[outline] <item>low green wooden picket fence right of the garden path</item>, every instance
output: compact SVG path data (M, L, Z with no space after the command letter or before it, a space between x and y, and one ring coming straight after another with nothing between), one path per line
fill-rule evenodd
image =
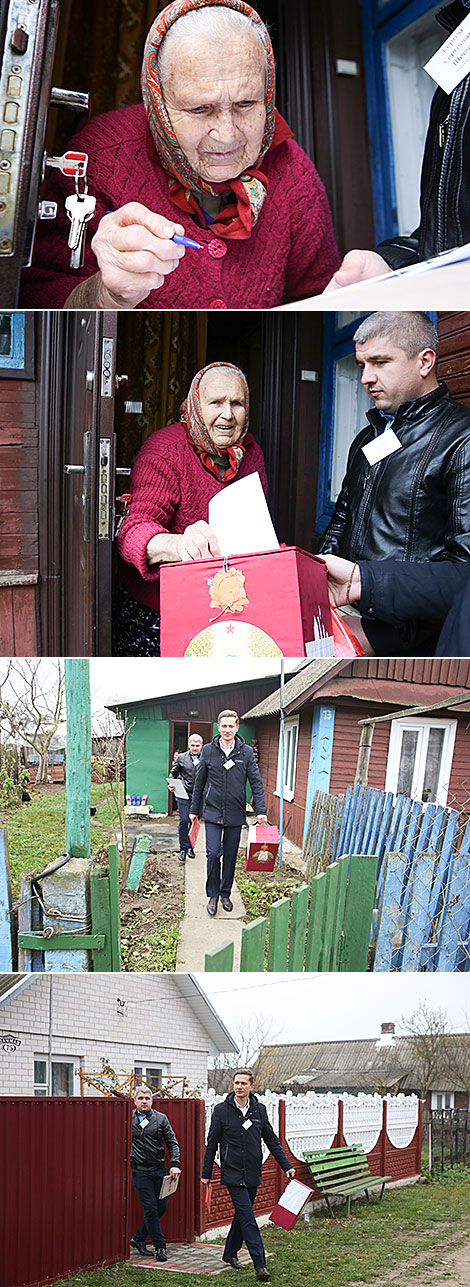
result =
M243 925L241 970L366 970L377 860L341 857ZM206 952L205 969L233 970L233 942Z

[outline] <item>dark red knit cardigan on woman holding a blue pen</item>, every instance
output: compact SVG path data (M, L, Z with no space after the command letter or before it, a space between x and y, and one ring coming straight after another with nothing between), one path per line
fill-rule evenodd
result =
M340 264L323 184L305 152L287 139L264 157L268 196L247 241L218 237L216 224L200 228L170 199L167 176L146 145L143 106L120 108L90 121L73 139L89 153L89 189L97 212L86 236L84 269L70 268L70 223L64 198L71 180L50 175L48 196L58 201L54 221L39 224L33 268L23 273L21 302L27 308L62 308L79 282L97 272L93 232L109 210L138 201L183 224L205 251L187 250L179 268L151 291L142 309L265 309L319 293Z

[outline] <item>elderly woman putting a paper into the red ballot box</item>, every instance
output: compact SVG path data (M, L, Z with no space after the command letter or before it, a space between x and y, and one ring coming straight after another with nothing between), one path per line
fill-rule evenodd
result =
M122 587L115 654L158 651L160 564L219 555L207 524L211 497L255 472L268 490L263 453L249 431L249 409L243 372L211 362L194 376L182 420L152 434L140 448L130 512L118 537Z

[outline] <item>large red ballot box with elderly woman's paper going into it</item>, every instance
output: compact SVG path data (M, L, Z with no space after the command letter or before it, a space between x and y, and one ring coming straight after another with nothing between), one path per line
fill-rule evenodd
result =
M326 566L296 546L160 575L162 656L335 656Z

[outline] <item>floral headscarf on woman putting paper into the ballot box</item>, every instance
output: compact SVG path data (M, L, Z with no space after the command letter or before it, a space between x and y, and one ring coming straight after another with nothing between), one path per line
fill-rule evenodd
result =
M228 447L225 449L228 457L228 466L225 468L220 468L220 465L218 465L216 461L218 456L220 457L225 453L223 453L223 448L214 447L201 411L200 389L202 376L205 376L207 371L214 371L216 367L223 367L227 371L234 371L242 380L245 389L245 427L238 443L234 443L233 447ZM202 369L196 373L191 384L189 393L183 403L180 414L183 425L185 425L189 441L193 447L196 447L197 454L201 457L206 468L210 470L211 474L215 474L215 477L218 477L219 481L232 483L238 474L249 443L254 441L252 435L249 434L250 391L247 378L243 376L240 367L234 367L232 362L210 362L207 367L202 367Z

